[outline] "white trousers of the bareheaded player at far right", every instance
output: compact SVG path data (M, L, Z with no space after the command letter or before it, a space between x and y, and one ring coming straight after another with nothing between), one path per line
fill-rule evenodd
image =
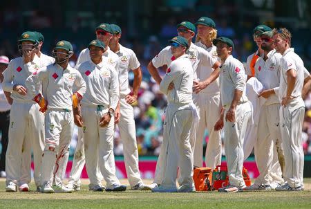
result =
M301 141L305 104L295 98L288 106L280 108L281 135L285 156L283 177L292 187L303 185L304 155Z

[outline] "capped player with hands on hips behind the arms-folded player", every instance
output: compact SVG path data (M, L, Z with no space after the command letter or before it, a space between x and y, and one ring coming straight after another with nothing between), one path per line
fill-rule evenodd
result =
M178 35L181 37L185 37L185 39L188 40L189 48L187 49L186 53L191 61L192 69L194 70L194 93L200 93L202 89L205 89L209 86L216 78L218 77L220 63L214 59L214 57L211 56L211 53L205 51L204 48L200 48L199 46L194 45L191 42L191 39L194 37L196 27L194 24L191 24L189 21L182 21L177 26ZM160 75L158 73L157 68L160 66L169 66L171 62L175 60L174 55L171 54L171 46L167 46L156 57L151 60L148 64L148 71L151 74L151 76L156 80L158 84L160 84L162 78L160 78ZM202 69L205 69L207 67L212 67L214 69L213 73L209 75L209 77L205 77L205 80L200 80L198 76L200 76L200 71L203 71ZM200 80L200 81L199 81ZM191 128L191 147L194 149L194 145L196 142L196 131L197 127ZM167 156L162 155L159 156L157 167L156 167L156 176L153 181L152 186L156 187L157 185L160 185L162 183L162 179L164 176L163 173L163 163L167 161ZM198 165L202 166L202 165Z

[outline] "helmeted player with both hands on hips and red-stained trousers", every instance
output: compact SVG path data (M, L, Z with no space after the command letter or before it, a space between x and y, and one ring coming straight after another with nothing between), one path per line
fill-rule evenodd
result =
M70 42L57 42L55 64L32 73L26 80L30 95L45 112L46 146L41 165L41 192L72 192L62 183L68 161L69 143L73 134L73 108L82 100L86 84L82 75L68 64L73 55ZM47 82L46 98L39 91L40 82ZM73 92L73 88L77 91ZM56 156L56 157L55 157ZM53 178L53 173L55 178ZM55 186L52 187L53 181Z

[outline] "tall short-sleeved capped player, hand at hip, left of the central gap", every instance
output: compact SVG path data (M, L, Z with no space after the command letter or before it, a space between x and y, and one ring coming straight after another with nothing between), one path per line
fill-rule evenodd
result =
M138 148L136 142L134 111L131 104L137 101L138 90L142 82L142 71L140 62L135 53L119 43L121 38L121 28L115 24L111 24L113 37L109 42L111 51L119 57L117 66L118 80L120 84L120 104L116 109L116 113L120 115L117 125L120 129L120 136L123 143L124 163L127 178L132 190L151 190L149 185L144 185L140 177L138 168ZM129 88L129 71L134 74L133 91Z

